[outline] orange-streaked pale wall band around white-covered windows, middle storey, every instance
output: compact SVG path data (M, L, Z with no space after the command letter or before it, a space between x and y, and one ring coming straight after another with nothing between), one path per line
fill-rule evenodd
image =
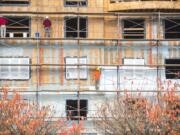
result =
M26 46L8 44L8 46L1 46L0 54L1 57L29 57L32 64L37 64L38 62L40 64L65 64L65 57L77 57L79 55L80 57L87 57L88 64L115 65L118 64L118 53L120 53L122 55L122 61L124 58L143 58L145 65L151 65L164 64L166 58L180 57L180 47L176 45L177 42L174 42L173 46L167 46L166 44L168 43L163 43L158 47L158 55L156 46L146 46L146 43L137 42L123 43L119 50L117 46L82 45L79 48L79 54L77 45L40 45L40 48L37 49L35 45L30 44ZM152 53L151 57L149 53ZM85 90L95 85L93 73L96 67L89 66L87 80L78 81L67 80L65 78L65 66L50 65L39 68L38 66L31 66L31 78L29 81L1 80L1 85L14 87L16 85L17 87L22 85L23 89L27 87L27 90L35 90L36 85L39 83L40 90L77 90L80 82L81 88Z

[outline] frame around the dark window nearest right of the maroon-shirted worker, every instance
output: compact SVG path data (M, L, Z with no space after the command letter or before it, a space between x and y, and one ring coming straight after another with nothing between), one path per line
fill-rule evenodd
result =
M76 31L73 31L73 32L76 32L77 33L77 36L76 37L68 37L67 36L67 32L69 32L69 31L66 31L66 28L67 28L67 24L66 24L66 19L67 18L77 18L77 21L78 21L78 17L73 17L73 16L65 16L64 17L64 37L65 38L72 38L72 39L76 39L76 38L84 38L84 39L86 39L86 38L88 38L88 17L83 17L83 16L80 16L79 17L79 19L81 19L81 18L85 18L86 19L86 31L80 31L80 30L78 30L78 28L77 28L77 30ZM79 23L80 23L80 20L79 20ZM77 24L78 25L78 24ZM79 24L80 25L80 24ZM70 31L70 32L72 32L72 31ZM78 32L79 32L79 37L78 37ZM81 32L85 32L86 33L86 35L85 35L85 37L81 37L80 36L80 33Z

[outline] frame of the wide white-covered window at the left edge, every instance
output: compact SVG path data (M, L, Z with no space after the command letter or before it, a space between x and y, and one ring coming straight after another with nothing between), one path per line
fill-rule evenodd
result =
M27 58L28 60L29 60L29 65L28 65L28 68L29 68L29 73L28 73L28 78L27 79L25 79L25 78L23 78L23 79L20 79L20 78L16 78L16 79L12 79L12 78L9 78L9 79L3 79L3 78L0 78L0 81L6 81L6 80L8 80L8 81L28 81L28 80L30 80L31 79L31 63L32 63L32 61L31 61L31 58L30 57L0 57L0 59L1 58L8 58L8 59L13 59L13 58L19 58L19 59L22 59L22 58ZM5 66L6 67L6 66ZM23 66L16 66L16 67L18 67L18 68L22 68ZM11 70L12 69L12 67L9 67L8 66L8 70ZM20 72L20 70L18 70L18 72ZM10 72L11 73L11 72ZM1 66L0 66L0 74L1 74ZM9 71L8 71L8 74L9 74Z

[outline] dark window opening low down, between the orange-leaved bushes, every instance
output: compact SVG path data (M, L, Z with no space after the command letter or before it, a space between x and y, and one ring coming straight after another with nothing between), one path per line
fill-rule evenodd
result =
M79 103L80 108L78 108L78 100L66 100L66 116L68 120L83 120L87 118L88 101L80 100Z

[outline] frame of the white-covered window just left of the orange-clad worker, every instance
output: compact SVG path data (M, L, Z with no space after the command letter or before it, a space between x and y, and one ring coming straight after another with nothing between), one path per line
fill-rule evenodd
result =
M70 58L70 59L71 59L71 58L72 58L72 59L74 58L74 59L77 59L77 60L78 60L78 57L69 57L69 56L67 56L67 57L64 58L65 64L67 63L66 61L67 61L68 58ZM79 59L81 59L81 58L83 58L83 59L85 58L85 59L86 59L86 64L88 63L88 59L87 59L86 56L82 56L82 57L80 57ZM81 63L80 63L80 64L81 64ZM84 66L85 66L85 67L84 67ZM78 80L78 79L79 79L79 80L87 80L87 79L88 79L88 67L87 67L87 65L84 65L84 66L82 66L82 67L84 67L85 70L86 70L86 75L85 75L86 77L85 77L85 78L81 78L81 76L80 76L79 78L78 78L78 77L68 78L68 77L67 77L67 67L68 67L68 66L66 65L66 66L65 66L65 68L66 68L66 69L65 69L65 78L66 78L66 80ZM72 66L70 66L70 67L72 67ZM74 68L75 68L75 66L74 66ZM84 68L83 68L83 69L84 69ZM78 71L78 66L76 66L75 69L77 69L77 71ZM79 66L79 69L80 69L80 72L81 72L81 66ZM79 73L80 73L80 72L79 72Z

